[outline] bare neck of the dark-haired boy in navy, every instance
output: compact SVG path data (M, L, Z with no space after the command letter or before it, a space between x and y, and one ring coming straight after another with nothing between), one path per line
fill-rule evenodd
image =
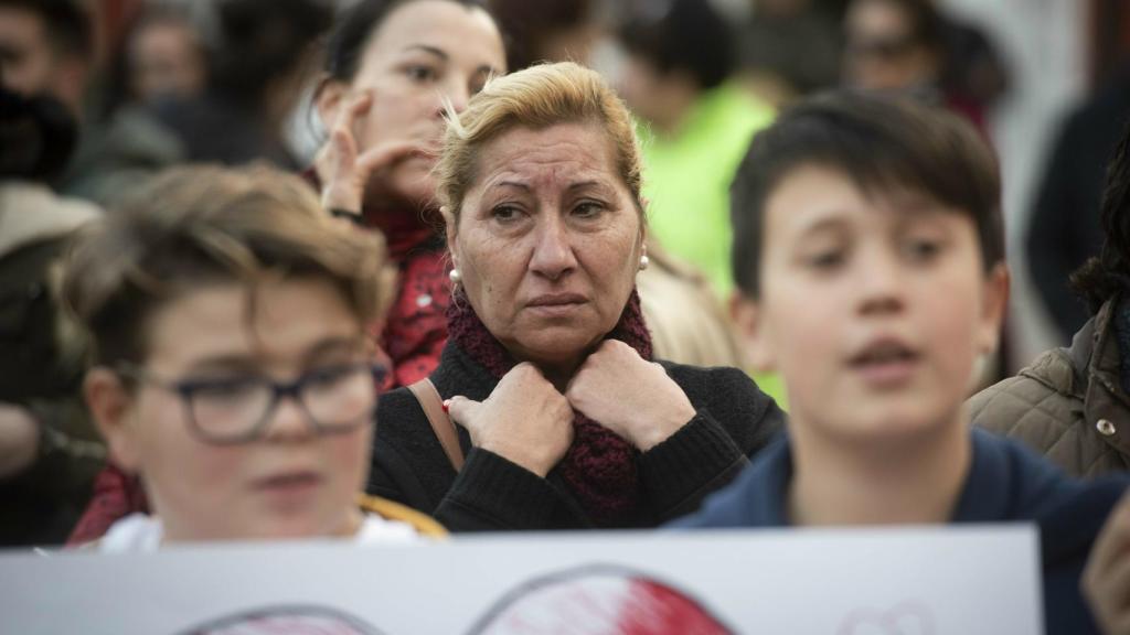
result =
M791 423L796 525L947 522L972 461L964 411L936 433L897 441L828 438Z

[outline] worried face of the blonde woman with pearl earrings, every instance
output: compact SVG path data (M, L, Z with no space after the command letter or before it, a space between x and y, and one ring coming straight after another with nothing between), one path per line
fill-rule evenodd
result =
M571 373L620 318L640 212L599 125L515 128L478 153L447 242L467 297L520 360Z

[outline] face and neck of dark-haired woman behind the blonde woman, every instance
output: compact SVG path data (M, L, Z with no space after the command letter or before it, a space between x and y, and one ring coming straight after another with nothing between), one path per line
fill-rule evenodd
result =
M370 36L350 89L373 106L355 134L362 149L414 141L438 154L444 101L457 112L492 75L505 72L502 36L480 9L416 0L393 9ZM434 156L411 156L374 175L367 200L431 202Z

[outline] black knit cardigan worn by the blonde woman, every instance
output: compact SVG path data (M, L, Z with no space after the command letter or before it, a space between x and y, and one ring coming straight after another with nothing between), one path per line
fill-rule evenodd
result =
M664 363L697 415L638 455L643 501L629 527L655 527L696 510L729 482L784 421L776 403L736 368ZM498 383L449 341L431 375L440 394L481 401ZM407 389L377 407L371 494L429 513L452 531L584 529L594 523L556 471L545 479L486 450L459 428L467 456L457 475L419 402Z

